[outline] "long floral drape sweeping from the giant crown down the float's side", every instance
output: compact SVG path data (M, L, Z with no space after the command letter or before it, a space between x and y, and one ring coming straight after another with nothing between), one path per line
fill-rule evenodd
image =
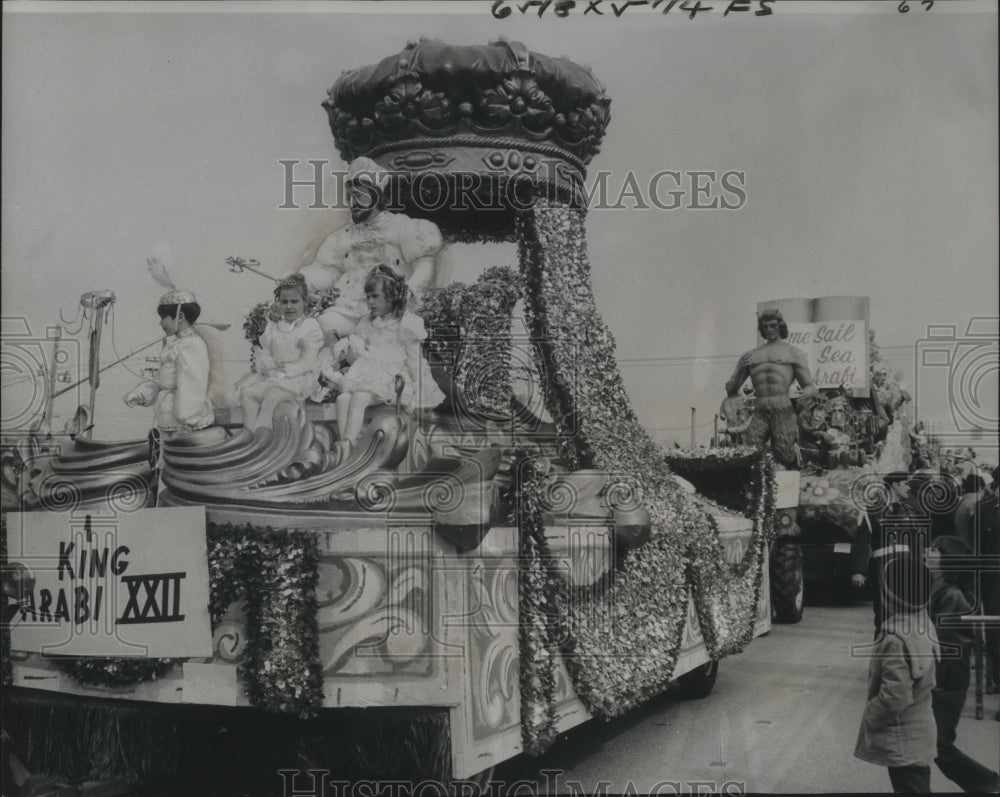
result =
M597 468L639 484L652 520L651 540L623 553L612 577L589 595L563 601L552 589L545 596L559 609L577 694L591 713L609 718L669 683L689 595L714 658L752 638L757 596L740 596L762 578L766 540L752 535L741 561L727 564L706 508L677 486L664 452L639 424L594 302L584 219L583 211L539 196L518 217L518 242L528 322L562 456L570 469ZM763 485L754 489L759 495ZM761 511L766 507L765 500ZM522 650L522 659L534 655Z

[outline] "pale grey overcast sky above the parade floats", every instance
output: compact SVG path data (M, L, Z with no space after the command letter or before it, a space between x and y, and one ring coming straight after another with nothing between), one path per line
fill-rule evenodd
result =
M40 335L60 312L74 319L80 295L96 289L118 297L104 362L153 340L162 289L145 259L167 247L203 318L233 325L217 335L231 383L244 370L244 312L270 287L228 273L226 257L256 257L281 276L345 221L338 210L278 208L279 160L340 163L319 104L327 88L421 35L506 36L587 64L606 86L611 124L589 182L609 172L612 199L630 173L639 186L667 169L744 175L738 210L588 217L597 304L658 439L686 443L695 407L698 442L708 442L723 385L755 343L759 301L844 294L870 297L877 340L921 415L948 422L951 379L966 385L956 400L978 403L996 428L995 336L985 368L965 358L974 378L914 366L928 325L955 327L949 345L962 361L984 350L965 335L970 319L998 314L993 2L913 3L900 14L895 2L777 0L770 16L723 18L718 0L694 20L676 10L616 18L606 2L604 16L583 16L579 3L564 19L507 3L504 20L489 2L332 4L361 13L85 5L4 4L8 343L12 318ZM516 264L513 245L454 246L444 258L463 278ZM140 369L142 357L129 365ZM120 401L134 381L122 366L105 374L95 437L143 434L148 411ZM65 418L75 400L58 401Z

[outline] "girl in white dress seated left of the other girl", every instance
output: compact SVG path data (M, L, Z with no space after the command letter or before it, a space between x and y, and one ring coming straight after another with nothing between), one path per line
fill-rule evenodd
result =
M301 274L286 277L274 289L281 317L267 322L260 348L254 349L254 372L236 386L248 429L271 428L280 402L301 402L313 391L323 330L315 318L306 316L306 297Z

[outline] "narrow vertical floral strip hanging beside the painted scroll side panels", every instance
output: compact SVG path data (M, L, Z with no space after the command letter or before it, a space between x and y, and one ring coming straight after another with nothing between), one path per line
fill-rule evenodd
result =
M541 496L547 463L518 451L512 464L519 563L518 642L521 651L521 740L524 751L539 755L556 738L556 667L560 627L555 612L562 594L555 562L542 524Z

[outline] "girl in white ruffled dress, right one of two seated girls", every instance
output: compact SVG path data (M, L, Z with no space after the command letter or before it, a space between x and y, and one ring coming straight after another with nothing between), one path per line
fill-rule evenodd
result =
M373 404L395 402L397 386L400 403L407 409L430 409L444 401L420 351L427 337L423 319L406 310L408 290L402 275L386 265L368 272L365 299L370 315L333 346L334 360L346 359L350 368L341 373L326 366L321 372L340 392L338 444L348 451L361 435L365 410Z

